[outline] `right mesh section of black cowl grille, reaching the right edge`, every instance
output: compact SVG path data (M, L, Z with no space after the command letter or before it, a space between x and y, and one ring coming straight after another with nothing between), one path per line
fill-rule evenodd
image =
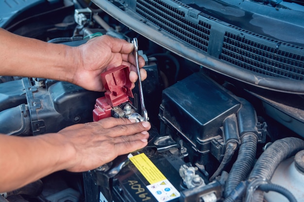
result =
M304 80L304 56L226 32L220 59L272 77Z

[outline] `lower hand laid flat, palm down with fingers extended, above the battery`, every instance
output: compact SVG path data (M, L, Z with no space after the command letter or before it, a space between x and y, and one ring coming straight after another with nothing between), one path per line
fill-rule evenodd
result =
M68 171L88 171L147 145L149 122L105 118L99 122L75 124L59 131L74 151Z

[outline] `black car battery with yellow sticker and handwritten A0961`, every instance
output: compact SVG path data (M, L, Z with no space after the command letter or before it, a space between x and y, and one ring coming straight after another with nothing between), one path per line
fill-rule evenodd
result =
M111 179L112 165L107 172L95 171L96 184L101 186L100 200L115 202L176 202L180 197L181 177L179 168L185 163L170 152L158 153L154 147L129 154L123 160L124 167ZM115 173L115 172L114 172ZM107 177L105 177L106 175ZM94 175L93 175L94 176ZM102 179L102 181L100 181ZM104 179L109 179L108 190ZM110 193L111 192L111 193Z

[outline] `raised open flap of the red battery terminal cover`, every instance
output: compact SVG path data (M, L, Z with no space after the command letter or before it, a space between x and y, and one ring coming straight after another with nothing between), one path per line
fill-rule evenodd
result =
M101 74L102 84L106 90L104 96L111 107L118 106L133 98L132 82L129 79L130 67L120 65Z

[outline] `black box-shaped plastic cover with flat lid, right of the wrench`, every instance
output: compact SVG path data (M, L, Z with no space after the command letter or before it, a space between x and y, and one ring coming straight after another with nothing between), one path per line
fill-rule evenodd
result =
M163 91L160 118L197 146L219 135L224 119L239 107L220 86L196 73Z

